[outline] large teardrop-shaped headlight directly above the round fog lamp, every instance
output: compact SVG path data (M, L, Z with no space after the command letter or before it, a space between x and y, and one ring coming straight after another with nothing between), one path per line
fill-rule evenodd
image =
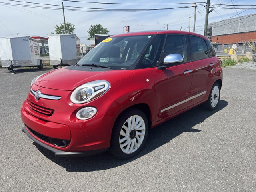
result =
M88 82L76 88L71 96L72 103L81 104L94 100L105 94L110 88L110 83L105 80Z

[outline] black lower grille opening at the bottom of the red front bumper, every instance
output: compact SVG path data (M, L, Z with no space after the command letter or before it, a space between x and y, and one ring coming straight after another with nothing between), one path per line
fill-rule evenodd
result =
M58 146L58 147L66 147L70 144L70 140L64 140L64 139L56 139L56 138L52 138L52 137L48 137L48 136L45 136L43 134L40 134L38 132L36 132L35 130L32 130L31 128L29 128L28 126L26 126L28 128L28 130L30 130L30 132L32 134L34 134L36 137L44 140L45 142L48 142L50 144L53 144L55 146Z

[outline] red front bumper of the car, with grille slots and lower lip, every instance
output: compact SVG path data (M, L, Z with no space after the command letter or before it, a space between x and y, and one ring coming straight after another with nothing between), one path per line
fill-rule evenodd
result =
M122 106L105 96L86 104L70 102L70 91L53 90L33 85L43 94L61 96L60 100L40 98L31 92L23 102L21 118L24 132L36 143L56 156L86 156L106 151L110 146L114 121ZM97 114L88 120L78 120L76 112L94 106ZM49 113L49 114L48 114ZM64 145L59 142L64 141Z

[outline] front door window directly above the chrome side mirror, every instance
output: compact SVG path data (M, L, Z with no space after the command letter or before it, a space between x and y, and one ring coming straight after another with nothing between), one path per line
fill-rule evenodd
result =
M188 61L186 38L184 35L168 35L164 45L164 57L169 54L180 54L184 62Z

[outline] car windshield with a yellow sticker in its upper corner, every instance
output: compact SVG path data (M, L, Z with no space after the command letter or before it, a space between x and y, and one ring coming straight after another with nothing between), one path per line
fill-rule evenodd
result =
M154 35L107 38L90 50L78 65L108 66L111 69L134 69L138 58Z

